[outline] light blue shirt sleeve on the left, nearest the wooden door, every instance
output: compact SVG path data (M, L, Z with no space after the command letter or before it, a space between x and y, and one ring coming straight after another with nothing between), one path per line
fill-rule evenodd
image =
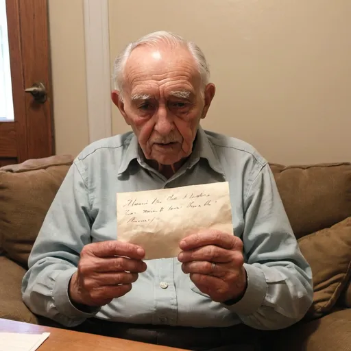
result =
M47 212L22 282L23 301L37 315L76 326L97 313L80 311L69 299L69 281L80 252L90 243L90 204L84 169L76 160Z

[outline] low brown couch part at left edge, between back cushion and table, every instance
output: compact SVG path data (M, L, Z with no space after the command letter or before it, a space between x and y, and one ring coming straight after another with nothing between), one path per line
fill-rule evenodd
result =
M37 317L22 300L25 269L5 256L0 256L0 267L0 318L38 324Z

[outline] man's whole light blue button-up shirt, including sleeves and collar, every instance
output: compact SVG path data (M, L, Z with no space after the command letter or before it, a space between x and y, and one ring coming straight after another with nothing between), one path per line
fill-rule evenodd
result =
M69 280L84 245L116 239L116 193L228 181L233 232L243 241L247 290L232 306L213 302L177 258L146 261L132 290L91 313L69 300ZM136 324L278 329L301 319L313 298L302 256L267 161L236 138L199 128L193 153L167 180L143 158L132 133L97 141L77 156L29 256L23 300L66 326L88 317Z

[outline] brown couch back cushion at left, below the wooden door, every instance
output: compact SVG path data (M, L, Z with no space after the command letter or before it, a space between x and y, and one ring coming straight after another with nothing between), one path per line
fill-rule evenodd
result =
M68 155L51 156L0 168L1 246L24 266L72 162Z

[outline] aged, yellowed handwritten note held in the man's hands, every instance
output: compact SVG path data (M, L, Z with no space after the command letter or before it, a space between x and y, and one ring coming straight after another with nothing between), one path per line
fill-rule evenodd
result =
M232 234L228 182L117 193L117 239L143 247L145 259L178 256L181 239L201 229Z

